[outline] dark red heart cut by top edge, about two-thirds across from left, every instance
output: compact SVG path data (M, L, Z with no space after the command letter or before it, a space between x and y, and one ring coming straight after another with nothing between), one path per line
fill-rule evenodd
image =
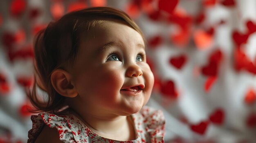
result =
M173 10L178 4L178 0L159 0L158 8L168 13L173 13Z

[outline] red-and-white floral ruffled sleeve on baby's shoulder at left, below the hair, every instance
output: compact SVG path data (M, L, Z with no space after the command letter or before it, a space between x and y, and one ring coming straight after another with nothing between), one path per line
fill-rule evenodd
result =
M43 130L44 125L48 125L50 128L56 128L59 133L59 138L64 143L76 143L74 135L75 132L72 131L73 117L61 116L49 113L40 113L37 116L32 115L31 121L33 123L32 129L29 130L28 143L33 143L40 132Z

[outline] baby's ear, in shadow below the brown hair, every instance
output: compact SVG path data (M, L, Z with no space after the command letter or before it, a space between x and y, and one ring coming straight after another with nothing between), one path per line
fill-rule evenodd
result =
M76 97L77 92L71 83L71 76L65 70L56 69L52 72L51 83L54 89L62 96Z

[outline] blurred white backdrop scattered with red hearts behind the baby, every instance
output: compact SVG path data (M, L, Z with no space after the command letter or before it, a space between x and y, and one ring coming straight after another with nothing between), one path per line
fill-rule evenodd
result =
M33 38L86 7L128 13L155 75L166 143L256 143L256 0L1 0L0 143L26 143Z

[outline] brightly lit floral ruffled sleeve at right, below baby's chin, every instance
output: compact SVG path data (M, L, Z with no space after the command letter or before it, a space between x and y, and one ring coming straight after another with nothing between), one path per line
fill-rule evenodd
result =
M141 111L146 123L146 131L150 134L151 143L164 143L165 119L161 110L144 108Z

